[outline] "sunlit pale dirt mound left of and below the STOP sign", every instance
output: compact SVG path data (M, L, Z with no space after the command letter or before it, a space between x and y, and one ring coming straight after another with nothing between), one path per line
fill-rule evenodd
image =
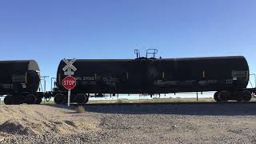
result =
M98 121L90 115L53 106L1 106L0 114L0 142L15 136L58 136L98 130Z

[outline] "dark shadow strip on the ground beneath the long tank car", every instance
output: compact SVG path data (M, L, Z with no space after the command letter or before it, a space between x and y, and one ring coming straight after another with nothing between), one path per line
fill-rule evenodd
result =
M51 105L75 110L70 107ZM103 114L256 115L256 102L114 103L84 105L87 112Z

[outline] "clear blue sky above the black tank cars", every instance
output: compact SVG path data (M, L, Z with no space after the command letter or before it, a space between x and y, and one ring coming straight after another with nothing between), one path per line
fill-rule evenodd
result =
M255 0L22 0L0 2L0 60L244 55L256 72Z

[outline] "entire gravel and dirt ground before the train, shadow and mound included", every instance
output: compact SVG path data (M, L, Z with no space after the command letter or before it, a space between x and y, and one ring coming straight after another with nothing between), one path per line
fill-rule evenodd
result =
M256 143L256 103L0 106L0 143Z

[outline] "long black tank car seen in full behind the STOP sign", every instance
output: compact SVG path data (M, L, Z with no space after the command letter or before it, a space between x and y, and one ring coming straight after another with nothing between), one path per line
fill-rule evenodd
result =
M246 89L249 66L243 56L206 58L78 59L71 102L86 103L90 94L168 94L217 91L214 100L248 102L255 89ZM138 52L138 50L136 51ZM60 62L54 102L66 103Z

